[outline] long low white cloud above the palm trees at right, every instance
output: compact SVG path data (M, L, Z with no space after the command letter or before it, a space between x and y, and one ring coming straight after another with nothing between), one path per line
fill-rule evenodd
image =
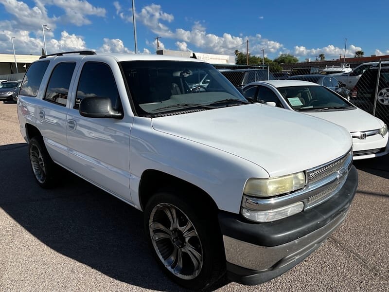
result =
M346 57L354 56L355 51L362 50L361 47L357 47L354 45L350 45L346 50ZM295 46L294 47L294 55L296 56L316 56L319 54L324 54L326 58L338 58L339 55L344 55L344 48L339 48L334 45L328 45L323 48L317 49L307 49L304 46Z

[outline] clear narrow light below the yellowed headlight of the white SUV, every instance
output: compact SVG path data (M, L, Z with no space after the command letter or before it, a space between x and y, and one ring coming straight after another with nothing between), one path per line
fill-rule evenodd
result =
M242 215L255 222L271 222L295 215L300 213L302 210L304 210L304 203L297 202L281 208L266 211L254 211L242 208Z

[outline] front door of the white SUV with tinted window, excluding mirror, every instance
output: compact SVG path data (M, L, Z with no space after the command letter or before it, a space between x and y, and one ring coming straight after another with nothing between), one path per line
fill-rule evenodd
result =
M108 97L115 109L123 110L126 94L123 77L116 62L108 65L83 61L66 127L71 169L111 194L131 201L129 192L129 141L132 116L124 112L122 119L88 118L80 115L84 97ZM127 100L128 103L128 100Z

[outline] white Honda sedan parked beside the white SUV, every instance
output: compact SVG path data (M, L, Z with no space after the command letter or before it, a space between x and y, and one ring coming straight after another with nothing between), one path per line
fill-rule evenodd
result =
M269 80L252 82L243 92L250 101L299 111L347 128L353 137L354 160L389 153L388 126L324 86L299 80Z

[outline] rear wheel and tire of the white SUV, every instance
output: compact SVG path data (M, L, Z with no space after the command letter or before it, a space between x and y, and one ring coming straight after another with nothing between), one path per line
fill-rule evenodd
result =
M42 188L52 188L56 182L56 164L47 152L42 137L33 137L28 146L35 181Z

